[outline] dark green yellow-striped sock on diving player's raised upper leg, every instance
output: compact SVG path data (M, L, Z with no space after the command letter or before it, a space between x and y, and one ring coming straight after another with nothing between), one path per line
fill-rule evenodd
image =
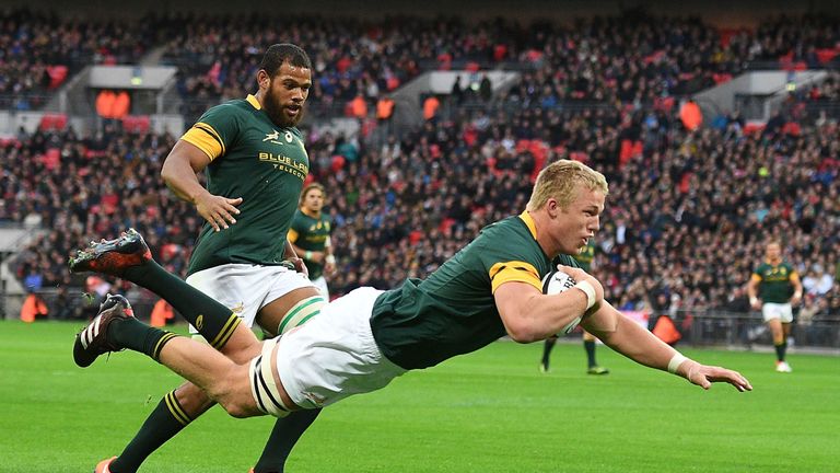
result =
M228 343L240 324L230 309L168 273L155 262L126 269L125 279L165 299L215 349Z

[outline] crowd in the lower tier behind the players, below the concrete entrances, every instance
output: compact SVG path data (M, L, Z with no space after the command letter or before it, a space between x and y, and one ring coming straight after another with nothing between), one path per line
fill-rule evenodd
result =
M674 115L644 109L525 107L430 120L382 147L313 129L308 149L336 222L335 295L430 273L483 224L521 211L537 166L571 157L611 185L595 267L618 305L744 309L740 289L774 236L820 310L840 313L840 285L829 281L840 269L837 136L836 122L798 136L745 135L736 120L687 131ZM22 172L0 180L0 219L52 229L23 253L20 278L34 289L81 287L66 269L71 249L127 227L183 273L200 219L158 176L174 139L107 128L7 142L3 168ZM622 161L622 140L643 143L641 152ZM60 147L57 161L46 159L50 146Z

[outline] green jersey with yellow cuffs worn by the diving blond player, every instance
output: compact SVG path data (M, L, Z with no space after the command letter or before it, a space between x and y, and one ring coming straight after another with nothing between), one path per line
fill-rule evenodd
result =
M561 262L578 266L571 256ZM376 299L371 328L389 360L428 368L505 335L493 292L522 281L541 291L551 261L527 212L492 223L425 280L408 279Z

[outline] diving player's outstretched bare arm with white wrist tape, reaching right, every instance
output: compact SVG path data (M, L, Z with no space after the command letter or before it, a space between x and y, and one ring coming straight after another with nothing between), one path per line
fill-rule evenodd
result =
M709 389L713 382L727 382L742 392L752 390L752 385L739 372L686 358L621 314L607 301L604 301L595 313L585 318L581 325L633 361L675 373L703 389Z

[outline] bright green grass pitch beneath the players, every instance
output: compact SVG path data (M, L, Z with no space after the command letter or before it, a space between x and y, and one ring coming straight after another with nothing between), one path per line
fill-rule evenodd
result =
M147 357L77 368L79 323L0 322L0 472L89 472L117 454L178 378ZM290 472L836 472L840 358L685 348L744 372L755 391L703 391L598 347L495 343L330 406ZM246 472L271 427L218 407L150 458L147 472Z

